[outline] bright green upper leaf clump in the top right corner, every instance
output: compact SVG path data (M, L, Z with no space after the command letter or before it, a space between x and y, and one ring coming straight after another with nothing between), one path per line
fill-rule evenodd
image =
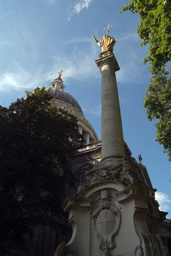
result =
M149 55L145 63L151 63L151 72L165 72L165 64L171 58L171 3L168 0L133 0L123 7L122 12L130 10L138 13L140 24L137 33L143 40L142 45L149 44Z

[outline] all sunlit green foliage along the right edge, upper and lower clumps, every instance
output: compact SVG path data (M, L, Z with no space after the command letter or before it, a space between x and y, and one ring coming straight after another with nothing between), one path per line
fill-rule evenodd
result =
M156 120L156 140L163 145L171 161L170 113L171 93L168 67L171 58L171 2L168 0L133 0L121 12L138 13L137 33L142 45L149 44L149 55L144 63L151 64L151 83L147 87L144 108L147 118Z

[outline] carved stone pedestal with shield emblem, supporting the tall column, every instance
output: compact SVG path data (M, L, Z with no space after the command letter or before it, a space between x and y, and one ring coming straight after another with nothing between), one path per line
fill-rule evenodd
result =
M90 186L63 204L73 235L55 256L164 256L158 234L165 212L154 200L156 189L136 180L128 163L107 166L98 178L96 172L87 173Z

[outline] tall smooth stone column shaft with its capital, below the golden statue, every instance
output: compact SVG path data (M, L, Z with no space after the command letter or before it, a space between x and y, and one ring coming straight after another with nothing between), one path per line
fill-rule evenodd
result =
M101 54L100 54L101 55ZM101 161L124 157L123 127L115 72L119 65L110 53L96 60L101 71Z

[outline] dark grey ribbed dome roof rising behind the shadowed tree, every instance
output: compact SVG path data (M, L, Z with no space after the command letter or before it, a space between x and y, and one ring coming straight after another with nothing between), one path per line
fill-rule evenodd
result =
M70 93L65 92L64 90L53 88L52 86L47 88L48 95L52 96L54 99L63 100L66 103L71 104L73 107L77 108L78 111L82 113L82 109L78 104L77 100L74 99ZM83 113L82 113L83 115Z

